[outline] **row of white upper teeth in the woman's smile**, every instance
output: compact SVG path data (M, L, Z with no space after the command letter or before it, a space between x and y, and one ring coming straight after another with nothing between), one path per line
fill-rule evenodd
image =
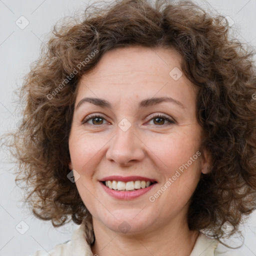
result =
M107 187L114 189L114 190L134 190L139 188L145 188L151 185L150 181L144 181L144 180L135 180L135 181L116 181L116 180L107 180L104 183Z

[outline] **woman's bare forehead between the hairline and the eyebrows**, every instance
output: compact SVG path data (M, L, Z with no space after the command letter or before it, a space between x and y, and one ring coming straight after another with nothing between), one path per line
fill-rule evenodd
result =
M92 71L81 77L76 101L85 94L109 97L112 93L116 100L172 94L189 101L194 85L182 74L180 61L179 53L161 47L129 46L109 50Z

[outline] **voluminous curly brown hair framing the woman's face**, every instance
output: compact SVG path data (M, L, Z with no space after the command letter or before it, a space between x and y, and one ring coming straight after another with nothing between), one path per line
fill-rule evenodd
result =
M217 239L229 221L238 231L242 217L256 208L256 68L254 52L232 39L224 17L191 1L117 0L85 9L83 20L55 25L20 88L23 122L8 144L17 159L15 182L26 182L32 213L53 226L91 215L70 172L68 137L81 76L110 49L140 45L174 49L181 68L198 88L197 120L201 150L212 159L192 195L191 230L208 230ZM29 191L29 192L28 192ZM71 217L71 219L69 218Z

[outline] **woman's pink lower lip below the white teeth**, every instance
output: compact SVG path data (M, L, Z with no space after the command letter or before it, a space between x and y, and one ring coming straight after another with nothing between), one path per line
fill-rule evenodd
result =
M133 199L136 198L146 192L148 192L156 183L151 184L148 187L145 188L140 188L134 191L118 191L118 190L114 190L111 189L107 186L105 186L101 181L99 181L99 183L101 184L101 186L103 187L103 189L112 197L116 198L116 199L123 199L123 200L129 200L129 199Z

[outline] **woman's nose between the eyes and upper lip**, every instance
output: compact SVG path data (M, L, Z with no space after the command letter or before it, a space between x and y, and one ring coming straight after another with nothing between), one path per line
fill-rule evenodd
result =
M121 166L130 166L136 161L141 161L145 155L145 145L139 135L134 133L133 125L126 131L117 126L115 132L115 135L109 141L110 145L106 152L106 159L115 161Z

